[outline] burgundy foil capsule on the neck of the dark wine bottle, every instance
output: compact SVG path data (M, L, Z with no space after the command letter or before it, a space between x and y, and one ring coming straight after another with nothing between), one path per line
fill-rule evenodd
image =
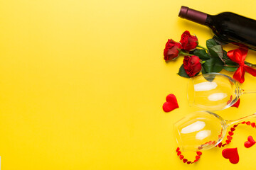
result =
M181 18L185 18L189 21L193 21L193 22L200 23L202 25L207 26L207 23L206 23L206 20L208 18L207 13L196 11L186 6L181 6L181 10L179 11L178 16Z

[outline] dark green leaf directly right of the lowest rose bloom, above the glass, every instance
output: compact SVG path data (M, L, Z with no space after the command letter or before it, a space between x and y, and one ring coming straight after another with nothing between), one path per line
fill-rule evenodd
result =
M209 72L220 72L223 69L224 63L217 57L211 57L210 60L206 60L203 64L204 71Z

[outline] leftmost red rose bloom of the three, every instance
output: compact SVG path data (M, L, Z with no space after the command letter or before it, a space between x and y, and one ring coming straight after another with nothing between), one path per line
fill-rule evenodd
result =
M178 52L181 49L181 43L174 40L168 40L164 49L164 60L174 60L178 57Z

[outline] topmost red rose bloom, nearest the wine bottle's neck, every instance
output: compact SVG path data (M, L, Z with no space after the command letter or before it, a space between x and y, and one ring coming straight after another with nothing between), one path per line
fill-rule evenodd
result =
M198 39L196 36L191 35L188 30L181 35L180 42L182 49L187 51L195 49L198 45Z

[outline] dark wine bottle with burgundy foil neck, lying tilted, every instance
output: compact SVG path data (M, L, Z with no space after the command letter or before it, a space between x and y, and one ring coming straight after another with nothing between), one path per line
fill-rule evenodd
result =
M212 16L181 6L178 16L208 26L223 42L256 50L256 21L236 13L223 12Z

